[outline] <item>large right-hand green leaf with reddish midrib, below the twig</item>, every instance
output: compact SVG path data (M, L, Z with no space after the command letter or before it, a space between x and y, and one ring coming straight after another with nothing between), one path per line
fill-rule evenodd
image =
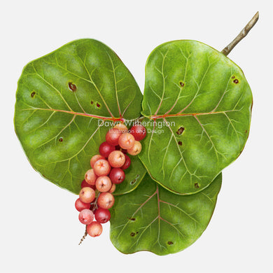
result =
M244 73L228 57L197 41L164 43L146 63L139 158L165 188L196 193L243 150L251 106Z

